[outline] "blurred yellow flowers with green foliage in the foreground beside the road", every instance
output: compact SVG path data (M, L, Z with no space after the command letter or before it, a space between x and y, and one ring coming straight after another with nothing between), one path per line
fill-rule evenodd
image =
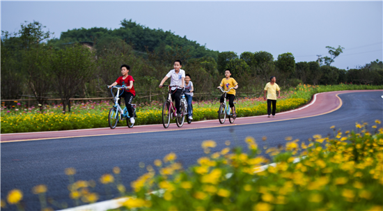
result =
M214 150L217 143L203 141L205 156L189 169L183 169L174 153L153 166L140 164L147 172L131 183L131 193L121 183L118 167L102 175L100 183L106 192L114 188L127 196L116 210L382 210L383 128L380 120L375 123L357 123L352 132L331 126L332 138L314 135L299 141L288 136L279 148L258 148L251 137L244 140L246 149L230 148L226 141L226 148ZM274 164L265 168L270 162ZM91 192L95 181L75 182L73 168L65 173L75 205L97 201L98 194ZM63 208L53 199L47 203L45 185L32 192L42 210ZM2 208L23 209L19 189L8 192L6 201L1 200Z

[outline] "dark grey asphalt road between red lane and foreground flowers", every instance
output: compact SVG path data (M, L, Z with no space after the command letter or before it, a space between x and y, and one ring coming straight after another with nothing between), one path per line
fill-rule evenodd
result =
M153 165L155 159L162 159L173 152L184 166L192 165L198 157L205 155L201 148L204 140L217 142L213 151L226 147L226 140L231 142L231 146L245 147L246 136L253 136L260 147L271 147L284 145L286 136L302 141L314 134L327 136L333 133L329 128L331 125L343 132L354 130L356 122L372 126L376 119L383 120L381 95L382 92L341 94L343 105L334 112L273 123L1 143L1 198L6 199L11 189L21 189L25 209L40 210L38 196L32 194L31 189L45 184L49 198L73 207L75 204L68 196L68 176L64 173L65 168L73 167L77 170L75 180L97 182L95 192L100 194L100 201L104 201L118 196L116 189L111 195L105 194L104 186L99 182L102 174L111 173L114 166L120 167L123 184L130 190L130 182L144 173L139 162ZM267 141L261 141L263 136L267 136ZM8 205L1 210L16 210L16 207Z

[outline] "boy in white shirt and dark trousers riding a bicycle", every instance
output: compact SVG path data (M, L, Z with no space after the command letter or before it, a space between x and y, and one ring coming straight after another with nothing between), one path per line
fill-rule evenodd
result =
M180 86L171 88L171 99L175 100L175 109L177 109L177 117L181 117L180 101L182 88L185 87L185 70L181 70L182 63L180 60L174 61L173 68L174 69L170 70L168 74L166 74L164 79L162 79L161 83L159 84L159 87L162 88L162 84L164 84L164 82L169 78L171 78L170 86Z

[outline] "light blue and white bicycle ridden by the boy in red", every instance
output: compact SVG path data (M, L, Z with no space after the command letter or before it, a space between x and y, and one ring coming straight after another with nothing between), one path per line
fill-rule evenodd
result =
M117 93L116 96L114 96L112 89L116 88ZM134 123L130 123L130 116L129 112L127 111L127 108L125 107L122 109L120 107L120 104L118 104L118 100L120 100L120 95L123 94L125 91L125 86L112 86L111 87L111 95L114 98L114 106L109 110L109 116L108 116L108 122L109 122L109 127L111 129L116 128L116 125L120 122L120 120L125 120L126 119L126 124L127 127L132 128L134 126ZM123 92L119 95L120 90L123 90ZM133 118L136 118L136 104L132 104L133 107Z

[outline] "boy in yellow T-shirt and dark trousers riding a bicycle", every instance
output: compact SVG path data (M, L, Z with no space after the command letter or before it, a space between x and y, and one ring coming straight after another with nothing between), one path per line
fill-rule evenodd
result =
M219 84L217 88L224 86L224 90L228 91L230 88L233 87L232 90L226 93L226 99L228 99L228 104L231 108L231 113L233 114L233 117L235 118L235 116L237 115L235 114L234 98L235 98L235 89L238 88L238 83L237 81L235 81L235 79L230 78L230 75L231 75L231 70L226 69L225 78L222 79L221 84ZM224 102L224 97L225 97L225 93L221 96L221 99L219 100L219 102L221 103Z

